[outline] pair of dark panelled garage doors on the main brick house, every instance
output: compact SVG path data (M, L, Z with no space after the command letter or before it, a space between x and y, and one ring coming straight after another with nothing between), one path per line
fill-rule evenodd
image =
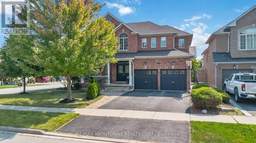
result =
M158 70L134 70L135 90L158 90ZM187 76L186 69L161 69L160 90L164 91L186 91Z

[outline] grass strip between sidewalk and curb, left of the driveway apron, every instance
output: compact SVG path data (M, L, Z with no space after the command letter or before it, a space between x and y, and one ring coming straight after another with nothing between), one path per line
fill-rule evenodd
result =
M54 131L78 116L77 113L0 110L0 126Z

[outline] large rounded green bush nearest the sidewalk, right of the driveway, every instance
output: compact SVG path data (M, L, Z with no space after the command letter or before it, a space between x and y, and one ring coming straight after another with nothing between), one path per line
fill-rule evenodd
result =
M222 97L216 90L209 87L202 87L192 90L191 101L197 108L209 109L220 105Z

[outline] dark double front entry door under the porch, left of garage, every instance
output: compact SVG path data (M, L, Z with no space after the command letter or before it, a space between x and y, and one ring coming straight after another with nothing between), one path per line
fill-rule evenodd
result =
M117 62L117 81L129 81L129 61Z

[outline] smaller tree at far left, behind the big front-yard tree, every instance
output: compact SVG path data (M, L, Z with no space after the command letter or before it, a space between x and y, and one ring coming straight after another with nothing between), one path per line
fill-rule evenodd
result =
M32 52L31 42L28 42L28 36L14 36L10 35L5 39L4 45L0 50L0 69L3 70L4 75L9 78L22 77L23 79L23 93L26 93L26 78L29 76L40 75L44 69L40 66L32 65L26 62L23 57L24 52ZM8 48L11 47L11 48ZM23 49L23 52L13 51L15 49ZM30 51L26 50L30 49Z

